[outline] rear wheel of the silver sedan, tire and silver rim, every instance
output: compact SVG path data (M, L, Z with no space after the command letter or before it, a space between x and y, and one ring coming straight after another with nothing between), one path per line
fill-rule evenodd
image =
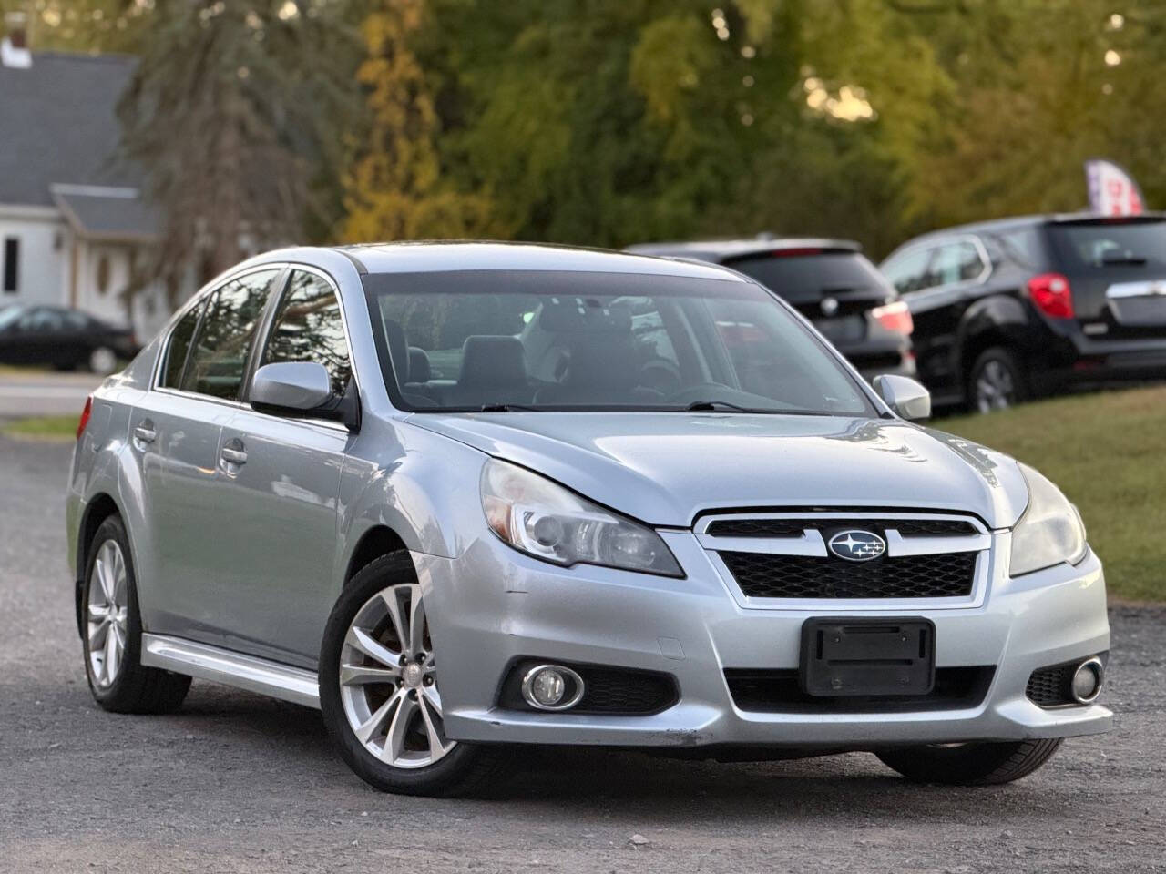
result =
M113 713L173 713L182 706L190 677L141 663L138 580L118 515L101 522L90 541L80 604L85 677L93 699Z

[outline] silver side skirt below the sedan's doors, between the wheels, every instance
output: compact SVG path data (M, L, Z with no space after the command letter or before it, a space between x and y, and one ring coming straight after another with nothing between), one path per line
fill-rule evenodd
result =
M142 634L141 663L319 710L315 674L266 658L181 637Z

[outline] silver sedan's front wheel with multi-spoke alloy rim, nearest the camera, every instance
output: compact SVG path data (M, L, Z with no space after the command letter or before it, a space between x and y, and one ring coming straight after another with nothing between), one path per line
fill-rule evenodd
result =
M319 654L319 705L340 756L381 791L461 795L504 761L499 748L445 736L437 660L407 552L372 562L336 602Z

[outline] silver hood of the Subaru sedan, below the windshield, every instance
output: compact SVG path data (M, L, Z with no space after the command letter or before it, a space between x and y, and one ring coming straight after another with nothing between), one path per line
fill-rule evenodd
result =
M412 424L539 471L660 527L780 507L972 513L1011 528L1016 461L898 420L683 413L414 414Z

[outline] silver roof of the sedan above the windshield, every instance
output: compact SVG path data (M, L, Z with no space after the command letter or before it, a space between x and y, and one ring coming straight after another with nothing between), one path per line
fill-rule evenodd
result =
M437 241L337 246L361 273L436 273L445 270L563 270L652 274L746 282L712 265L575 246L531 242ZM274 253L273 253L274 254Z

